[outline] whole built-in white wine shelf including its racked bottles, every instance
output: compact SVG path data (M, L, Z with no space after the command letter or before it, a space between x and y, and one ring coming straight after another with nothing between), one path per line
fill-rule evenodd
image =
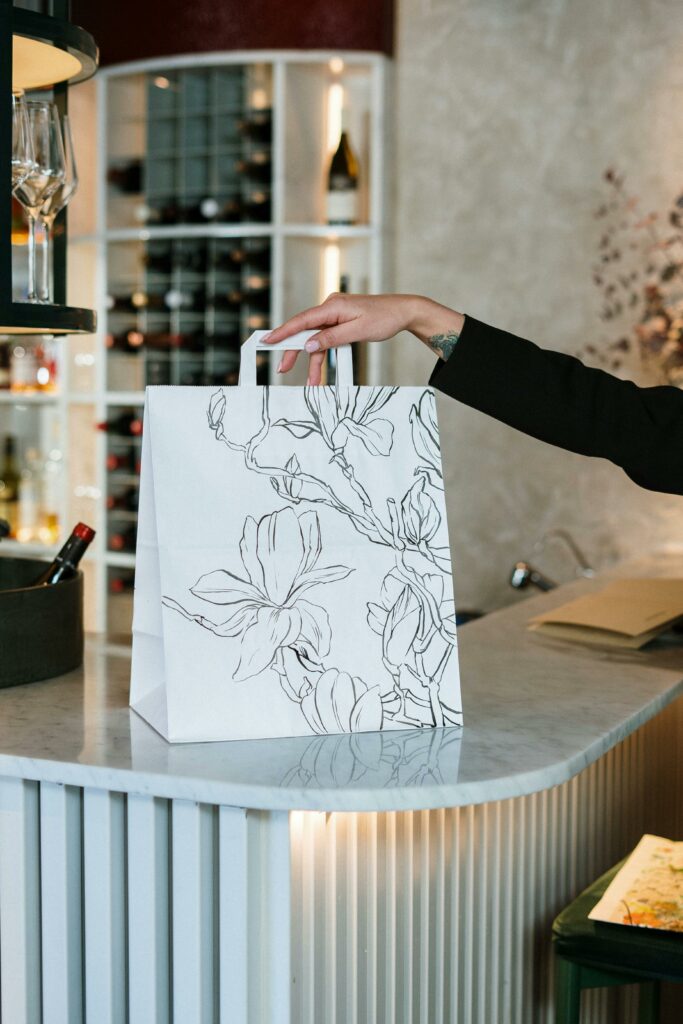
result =
M237 383L251 331L340 288L388 286L387 75L374 53L234 52L106 68L93 83L97 196L70 257L100 330L91 348L70 344L65 386L92 414L96 628L130 629L145 385ZM328 223L342 122L352 222ZM365 383L381 380L378 349Z

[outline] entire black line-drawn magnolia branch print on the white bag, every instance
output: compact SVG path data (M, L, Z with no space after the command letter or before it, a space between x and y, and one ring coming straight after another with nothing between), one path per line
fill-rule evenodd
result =
M449 596L450 553L435 544L441 514L433 495L442 492L443 481L432 392L424 391L410 412L418 463L415 481L402 497L387 498L384 509L377 507L356 474L353 452L347 453L353 442L370 459L391 454L394 427L381 413L395 392L390 387L304 388L307 418L272 421L265 387L260 422L241 440L234 429L225 428L229 392L216 391L208 408L216 440L240 453L248 471L267 476L289 504L258 522L247 517L241 570L214 569L190 588L194 597L225 608L222 622L189 611L172 597L163 598L166 607L204 629L240 637L233 680L273 671L318 734L380 730L389 722L393 727L422 728L462 724L461 712L440 692L455 650L456 626ZM284 465L266 465L258 450L271 431L282 430L296 439L296 453ZM311 435L329 450L338 480L332 471L322 479L304 469ZM321 508L343 516L367 543L392 552L393 568L384 577L378 600L366 600L368 626L381 638L382 679L366 681L328 664L334 624L331 627L326 608L315 603L315 593L309 600L307 592L338 585L353 569L318 564Z

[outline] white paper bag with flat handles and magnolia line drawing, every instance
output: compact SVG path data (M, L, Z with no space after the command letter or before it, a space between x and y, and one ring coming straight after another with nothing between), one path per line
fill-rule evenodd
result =
M146 389L131 707L173 742L462 724L433 392L349 348L257 387L264 333L238 387Z

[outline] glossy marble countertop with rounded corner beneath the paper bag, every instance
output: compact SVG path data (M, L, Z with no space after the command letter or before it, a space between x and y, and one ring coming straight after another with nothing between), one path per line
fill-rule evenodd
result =
M663 555L460 632L464 728L170 745L128 708L126 648L92 639L57 679L0 690L0 774L231 806L453 807L566 781L683 693L683 637L641 651L544 638L526 621L615 575L683 575Z

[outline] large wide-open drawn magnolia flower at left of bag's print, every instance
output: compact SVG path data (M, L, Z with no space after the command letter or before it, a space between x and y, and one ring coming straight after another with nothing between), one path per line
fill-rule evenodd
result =
M229 608L222 623L186 611L172 598L164 604L218 636L242 635L236 680L267 669L284 647L303 649L319 662L330 649L330 621L325 608L303 599L321 584L344 580L346 565L318 566L321 526L315 512L296 515L285 508L256 522L245 521L240 554L246 579L228 569L214 569L190 588L195 597Z

